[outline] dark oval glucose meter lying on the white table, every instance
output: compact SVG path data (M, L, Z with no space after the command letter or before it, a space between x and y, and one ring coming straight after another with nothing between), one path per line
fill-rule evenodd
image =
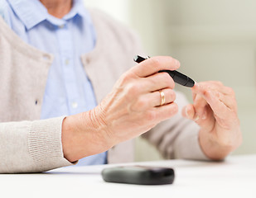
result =
M170 167L107 167L101 172L104 181L139 185L172 184L175 173Z

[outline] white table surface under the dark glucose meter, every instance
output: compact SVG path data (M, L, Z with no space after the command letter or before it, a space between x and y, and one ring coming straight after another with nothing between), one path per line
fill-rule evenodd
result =
M0 174L0 197L244 197L256 198L256 155L222 163L168 160L136 163L173 167L172 185L139 186L104 182L104 167L62 167L37 174Z

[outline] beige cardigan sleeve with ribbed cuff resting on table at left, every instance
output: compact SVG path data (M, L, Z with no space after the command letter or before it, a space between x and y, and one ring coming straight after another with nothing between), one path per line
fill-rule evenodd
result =
M63 119L0 123L0 173L45 172L72 165L62 151Z

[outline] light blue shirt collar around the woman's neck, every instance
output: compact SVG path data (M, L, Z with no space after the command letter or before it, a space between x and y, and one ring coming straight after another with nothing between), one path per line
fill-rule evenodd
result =
M27 30L45 20L53 25L61 26L76 15L89 18L82 0L73 0L73 7L62 19L51 16L39 0L8 0L8 2Z

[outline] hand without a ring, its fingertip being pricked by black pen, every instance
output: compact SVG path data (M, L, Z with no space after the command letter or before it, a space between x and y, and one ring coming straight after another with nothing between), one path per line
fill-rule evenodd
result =
M234 91L221 82L200 82L191 88L194 104L183 115L200 125L199 142L209 158L220 160L238 148L242 133Z

